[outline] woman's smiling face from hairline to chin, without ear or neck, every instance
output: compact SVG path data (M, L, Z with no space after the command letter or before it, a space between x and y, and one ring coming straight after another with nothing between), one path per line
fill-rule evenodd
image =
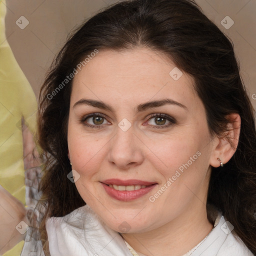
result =
M216 140L193 79L162 53L90 59L73 80L67 139L78 192L112 229L149 231L205 211Z

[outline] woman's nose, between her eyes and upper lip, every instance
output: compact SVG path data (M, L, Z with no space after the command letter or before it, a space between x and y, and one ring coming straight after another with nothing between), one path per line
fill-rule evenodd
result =
M108 151L108 161L119 169L135 167L143 162L143 144L133 133L132 127L127 131L117 128L111 139Z

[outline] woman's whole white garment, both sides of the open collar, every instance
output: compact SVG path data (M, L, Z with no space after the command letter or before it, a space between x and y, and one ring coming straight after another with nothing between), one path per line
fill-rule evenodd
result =
M132 255L121 235L106 226L88 205L64 217L47 219L46 231L51 256ZM241 239L230 232L223 216L194 248L185 255L253 256Z

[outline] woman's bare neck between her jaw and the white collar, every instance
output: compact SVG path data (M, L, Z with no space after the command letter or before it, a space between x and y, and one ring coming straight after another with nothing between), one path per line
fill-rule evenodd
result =
M180 256L196 246L212 229L206 206L189 207L181 215L157 229L143 233L123 233L122 237L137 252L146 256ZM191 209L195 209L191 212Z

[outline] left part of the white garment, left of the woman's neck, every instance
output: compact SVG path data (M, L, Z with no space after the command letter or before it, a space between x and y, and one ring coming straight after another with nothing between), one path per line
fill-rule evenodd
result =
M86 204L46 221L51 256L131 256L120 234Z

